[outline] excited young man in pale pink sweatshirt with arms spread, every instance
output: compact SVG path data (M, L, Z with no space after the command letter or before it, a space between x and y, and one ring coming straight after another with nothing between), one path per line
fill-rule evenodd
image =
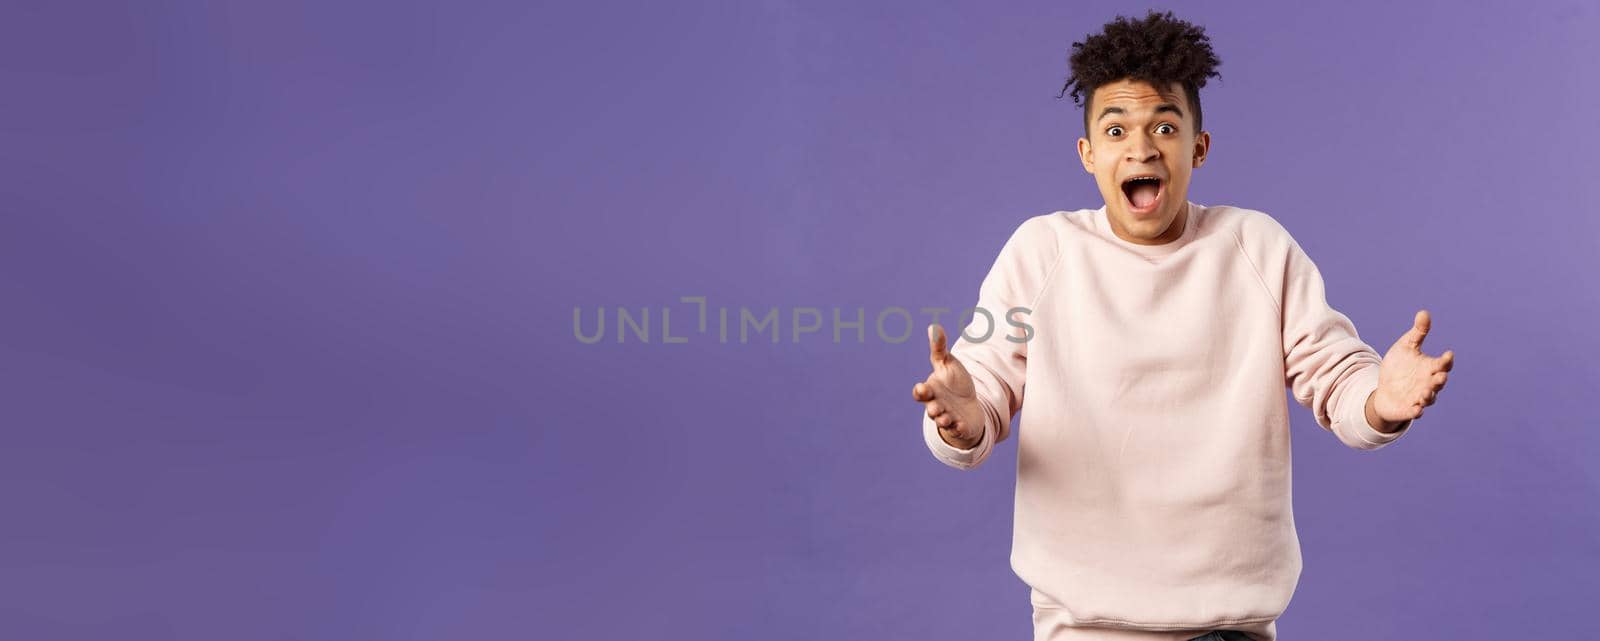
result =
M1274 639L1301 574L1283 388L1355 449L1410 432L1453 352L1421 352L1429 315L1379 358L1322 275L1264 213L1187 200L1205 163L1205 30L1150 13L1075 43L1083 169L1106 205L1032 217L912 388L923 436L970 470L1018 438L1011 567L1034 638ZM1066 91L1066 90L1064 90Z

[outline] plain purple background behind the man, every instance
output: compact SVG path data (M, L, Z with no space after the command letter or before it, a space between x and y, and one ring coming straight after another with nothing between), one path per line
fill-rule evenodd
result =
M1014 441L933 459L918 337L677 302L970 305L1101 205L1056 94L1142 8L933 5L6 3L0 635L1027 638ZM1282 635L1587 633L1600 11L1181 16L1224 61L1190 198L1283 222L1379 352L1429 309L1459 355L1379 452L1291 406Z

